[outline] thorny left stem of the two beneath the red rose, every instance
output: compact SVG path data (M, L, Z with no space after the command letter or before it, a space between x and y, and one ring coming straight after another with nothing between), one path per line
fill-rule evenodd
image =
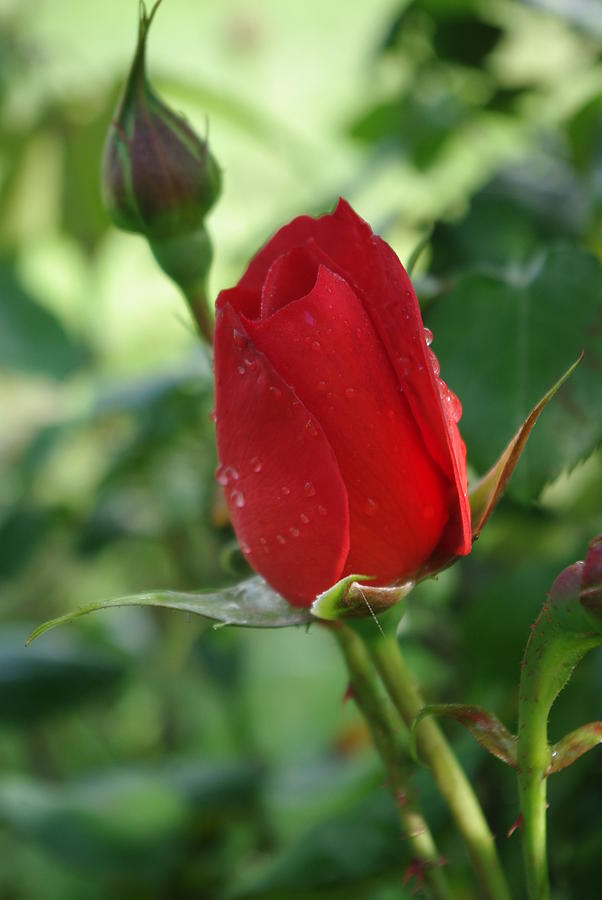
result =
M384 763L387 781L397 807L401 828L412 853L422 865L424 878L437 900L450 898L441 871L441 856L428 825L408 790L402 762L402 751L396 734L396 721L387 700L379 692L379 684L362 638L348 625L337 623L332 633L342 650L354 692L374 745Z

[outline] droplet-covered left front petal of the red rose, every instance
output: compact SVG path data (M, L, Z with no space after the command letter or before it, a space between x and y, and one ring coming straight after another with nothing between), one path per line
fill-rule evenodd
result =
M349 551L336 458L230 304L218 315L215 349L218 481L234 530L253 568L291 603L308 606L340 578Z

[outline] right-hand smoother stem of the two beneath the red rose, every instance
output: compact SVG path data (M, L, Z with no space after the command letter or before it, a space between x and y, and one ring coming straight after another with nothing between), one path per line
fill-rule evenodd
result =
M368 642L389 696L408 728L425 705L409 672L397 638L376 633ZM443 732L433 719L417 729L417 746L460 831L473 866L490 900L510 900L506 878L477 797Z

